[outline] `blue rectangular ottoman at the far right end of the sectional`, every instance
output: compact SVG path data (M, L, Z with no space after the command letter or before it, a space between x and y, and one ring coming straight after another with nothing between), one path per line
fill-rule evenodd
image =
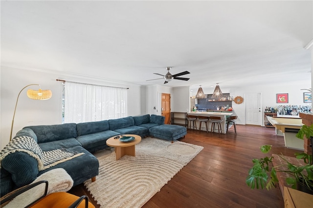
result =
M187 128L181 125L157 125L149 129L150 136L174 142L187 134Z

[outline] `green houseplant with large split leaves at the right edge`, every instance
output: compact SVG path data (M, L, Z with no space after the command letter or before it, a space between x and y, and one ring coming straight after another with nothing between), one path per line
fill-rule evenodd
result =
M312 144L313 125L303 125L296 134L296 137L299 139L303 139L304 136L310 138ZM260 147L260 150L263 153L268 153L270 149L270 145ZM271 189L272 187L276 187L276 184L278 184L276 173L286 172L289 175L286 179L286 183L288 185L291 185L291 187L295 189L297 189L297 185L302 186L306 189L306 192L313 194L312 155L306 153L295 153L295 156L297 159L302 159L304 161L303 166L291 164L283 155L279 155L279 157L286 161L286 164L279 166L273 166L273 156L253 159L253 166L249 170L246 178L246 184L252 189L264 187Z

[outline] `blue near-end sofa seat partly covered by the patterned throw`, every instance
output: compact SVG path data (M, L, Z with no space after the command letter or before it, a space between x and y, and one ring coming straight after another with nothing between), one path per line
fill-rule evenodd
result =
M99 161L89 151L82 146L68 148L69 151L84 152L85 154L72 158L64 163L52 166L39 172L38 176L55 168L63 168L73 179L73 186L79 185L84 181L99 174Z

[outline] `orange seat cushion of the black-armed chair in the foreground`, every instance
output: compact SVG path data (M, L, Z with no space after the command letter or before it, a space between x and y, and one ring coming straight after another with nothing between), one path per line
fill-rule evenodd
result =
M32 208L68 208L73 204L78 196L67 192L55 192L45 196L45 198L38 201L32 206ZM88 202L88 208L94 208L91 202ZM80 203L78 208L85 208L85 199Z

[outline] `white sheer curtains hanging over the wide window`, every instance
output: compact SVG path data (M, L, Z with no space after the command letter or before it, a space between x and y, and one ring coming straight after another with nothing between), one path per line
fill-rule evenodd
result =
M65 83L64 123L82 123L127 116L127 89Z

